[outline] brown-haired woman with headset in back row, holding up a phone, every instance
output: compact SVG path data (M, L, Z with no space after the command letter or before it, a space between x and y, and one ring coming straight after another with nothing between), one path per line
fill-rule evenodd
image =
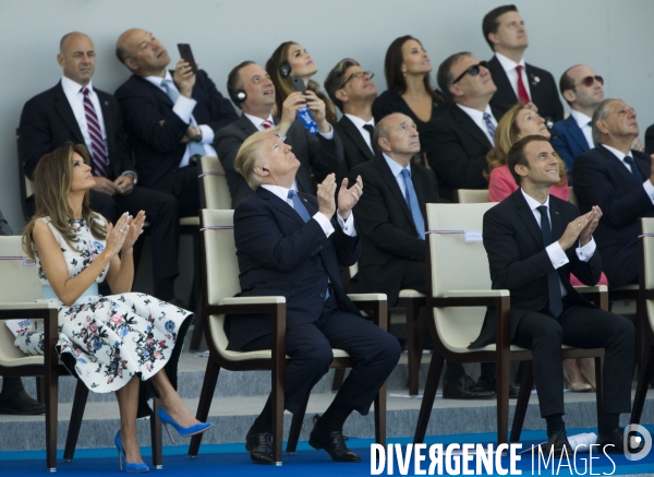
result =
M275 84L275 109L272 116L279 117L283 102L293 93L293 79L302 80L307 93L312 92L325 103L325 117L330 124L336 123L336 108L320 85L311 77L318 72L308 51L295 41L284 41L277 47L266 62L266 71ZM310 93L311 94L311 93Z

